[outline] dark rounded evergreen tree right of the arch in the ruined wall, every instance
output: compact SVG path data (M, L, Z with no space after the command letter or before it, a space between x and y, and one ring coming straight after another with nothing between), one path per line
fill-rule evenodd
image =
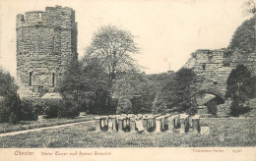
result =
M239 116L247 112L244 106L253 94L253 79L250 71L243 65L233 69L226 80L225 97L232 100L230 110L232 116Z

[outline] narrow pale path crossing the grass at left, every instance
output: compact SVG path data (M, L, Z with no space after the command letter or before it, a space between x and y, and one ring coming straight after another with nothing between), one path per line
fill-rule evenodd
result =
M60 125L60 126L44 127L44 128L38 128L38 129L32 129L32 130L26 130L26 131L18 131L18 132L10 132L10 133L5 133L5 134L0 134L0 137L8 136L8 135L16 135L16 134L26 134L26 133L30 133L30 132L39 132L39 131L43 131L43 130L50 130L50 129L74 126L74 125L78 125L78 124L91 123L91 122L94 122L94 121L84 121L84 122L71 123L71 124L65 124L65 125Z

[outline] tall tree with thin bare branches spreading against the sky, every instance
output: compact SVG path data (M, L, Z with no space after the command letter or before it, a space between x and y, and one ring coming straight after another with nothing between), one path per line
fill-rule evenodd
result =
M129 31L106 26L97 30L86 52L89 57L100 60L109 80L112 81L115 79L116 72L126 71L136 66L131 54L138 53L139 48Z

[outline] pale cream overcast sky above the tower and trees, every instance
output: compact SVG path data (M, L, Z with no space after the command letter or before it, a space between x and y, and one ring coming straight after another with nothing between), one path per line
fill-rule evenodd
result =
M1 66L16 74L16 15L71 7L78 23L78 53L90 45L98 27L130 30L141 48L134 58L147 74L177 71L197 49L219 49L245 18L244 0L2 0L0 3Z

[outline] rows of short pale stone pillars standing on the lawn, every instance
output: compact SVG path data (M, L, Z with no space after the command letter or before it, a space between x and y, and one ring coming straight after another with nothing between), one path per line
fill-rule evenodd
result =
M96 132L200 134L199 115L109 115L95 121Z

